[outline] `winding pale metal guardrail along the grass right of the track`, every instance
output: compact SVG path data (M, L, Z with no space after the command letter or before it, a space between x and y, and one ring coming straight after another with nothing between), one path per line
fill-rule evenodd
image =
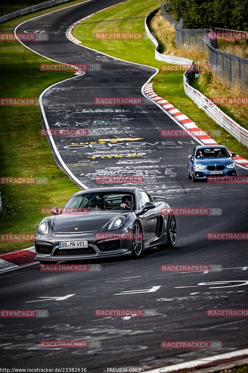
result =
M181 58L181 57L174 57L168 56L166 54L161 54L158 51L159 44L158 41L154 38L151 34L151 31L148 27L148 23L151 20L152 16L157 12L150 13L145 18L145 30L148 34L148 37L151 39L152 43L155 45L155 59L167 63L175 63L177 65L194 65L194 62L189 59ZM241 127L235 120L231 119L228 115L226 115L222 110L219 109L218 106L215 104L209 104L209 99L204 96L201 92L197 91L195 88L191 87L189 84L189 79L193 75L193 72L186 71L183 74L183 87L184 92L187 96L191 98L191 100L196 103L196 105L204 110L204 112L212 118L216 123L218 123L222 128L225 128L233 137L235 137L238 141L240 141L243 145L248 147L248 130Z

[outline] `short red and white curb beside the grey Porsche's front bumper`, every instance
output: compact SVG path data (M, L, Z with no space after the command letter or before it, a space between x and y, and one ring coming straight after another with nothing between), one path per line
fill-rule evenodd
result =
M26 267L35 262L35 247L0 255L0 273L20 267Z

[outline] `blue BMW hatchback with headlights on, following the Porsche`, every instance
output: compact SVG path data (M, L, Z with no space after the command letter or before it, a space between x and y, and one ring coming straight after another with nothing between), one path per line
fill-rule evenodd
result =
M236 176L236 163L223 145L201 145L188 156L188 178L193 182L205 180L207 176Z

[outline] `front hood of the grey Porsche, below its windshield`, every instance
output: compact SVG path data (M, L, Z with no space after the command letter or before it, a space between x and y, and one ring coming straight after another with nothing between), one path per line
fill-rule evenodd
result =
M54 233L86 233L99 231L104 225L110 222L120 211L100 211L88 214L60 214L53 218ZM75 229L78 228L78 229Z

